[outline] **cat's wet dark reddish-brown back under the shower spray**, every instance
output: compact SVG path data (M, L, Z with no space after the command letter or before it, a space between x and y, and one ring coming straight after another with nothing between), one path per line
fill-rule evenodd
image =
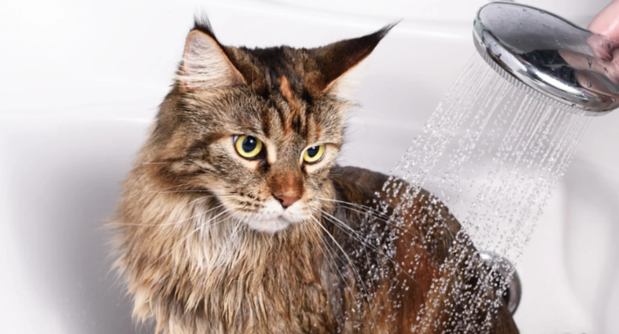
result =
M337 202L333 219L327 217L327 223L336 221L332 231L352 254L350 267L356 267L357 290L366 299L365 318L387 324L376 328L368 323L366 333L385 329L389 333L462 332L457 328L462 321L486 326L486 312L481 309L464 318L463 310L471 306L458 296L478 295L490 301L496 294L478 283L483 265L467 236L459 233L461 225L440 200L400 179L364 168L335 166L331 181ZM343 232L344 224L349 226L348 233ZM388 291L370 291L373 286L388 287ZM373 307L378 304L389 310L389 319L381 319L384 312ZM488 333L518 333L505 305L494 316Z

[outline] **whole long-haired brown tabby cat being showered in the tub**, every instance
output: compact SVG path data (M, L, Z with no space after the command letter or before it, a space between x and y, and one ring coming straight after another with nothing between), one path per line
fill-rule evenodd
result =
M339 88L389 29L248 49L196 22L112 223L137 319L166 334L517 333L438 200L334 165Z

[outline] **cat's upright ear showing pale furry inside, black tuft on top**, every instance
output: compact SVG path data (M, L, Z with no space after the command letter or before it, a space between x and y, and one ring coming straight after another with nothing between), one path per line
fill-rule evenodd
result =
M183 62L177 76L181 92L244 85L236 69L212 33L208 22L198 22L187 35Z

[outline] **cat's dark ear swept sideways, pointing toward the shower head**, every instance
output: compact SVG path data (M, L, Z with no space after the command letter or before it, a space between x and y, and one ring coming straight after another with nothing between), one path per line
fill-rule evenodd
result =
M352 72L352 69L370 55L378 42L396 24L386 25L370 35L342 40L313 49L311 61L314 71L311 71L311 75L307 78L311 90L314 93L324 93L336 85L339 86Z

